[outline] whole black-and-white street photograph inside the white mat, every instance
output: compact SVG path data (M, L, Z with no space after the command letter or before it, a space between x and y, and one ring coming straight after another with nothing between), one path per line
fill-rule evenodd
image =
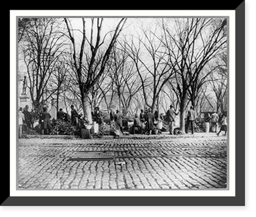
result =
M16 190L228 190L229 25L16 17Z

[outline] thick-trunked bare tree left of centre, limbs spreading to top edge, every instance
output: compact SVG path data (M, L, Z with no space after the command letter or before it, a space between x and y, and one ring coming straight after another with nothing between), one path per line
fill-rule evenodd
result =
M110 42L106 46L107 42L105 38L110 32L106 33L103 39L101 39L103 18L91 19L91 31L89 34L86 31L86 19L82 18L82 30L80 31L82 33L82 41L79 52L77 52L79 42L75 39L71 22L67 18L64 18L64 20L73 46L73 68L78 81L83 113L88 118L88 121L92 123L92 114L88 99L90 90L104 74L106 62L108 62L110 52L122 31L126 19L121 18L119 20L117 26L112 31L114 33L110 36ZM95 20L96 26L94 23ZM94 35L94 30L96 30L96 35ZM104 46L106 47L105 49ZM87 54L87 61L84 59L84 53ZM83 70L83 67L86 67L87 70Z

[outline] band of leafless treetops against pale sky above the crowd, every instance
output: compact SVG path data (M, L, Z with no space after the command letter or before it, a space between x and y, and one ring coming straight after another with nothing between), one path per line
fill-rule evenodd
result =
M92 122L95 106L134 115L170 104L227 109L226 18L22 18L19 61L33 105L64 100ZM20 69L19 69L20 70ZM160 112L161 110L161 112Z

